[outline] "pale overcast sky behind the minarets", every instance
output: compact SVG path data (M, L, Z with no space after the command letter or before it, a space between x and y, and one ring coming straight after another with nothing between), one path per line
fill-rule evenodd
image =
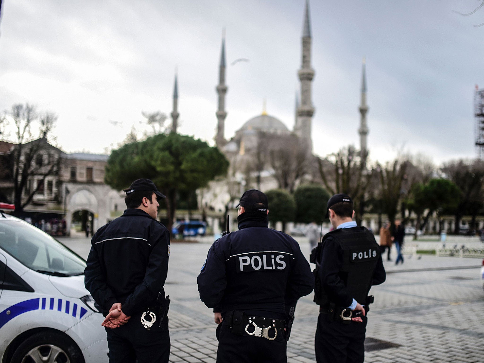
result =
M476 0L311 0L314 151L359 145L366 57L368 145L434 162L475 155L473 91L484 87L484 9ZM304 0L5 0L0 110L33 103L59 115L62 150L116 147L142 111L171 112L179 75L183 134L213 145L222 28L226 138L262 111L294 124ZM238 58L249 59L233 66ZM117 121L117 122L113 122ZM179 122L180 122L179 121Z

